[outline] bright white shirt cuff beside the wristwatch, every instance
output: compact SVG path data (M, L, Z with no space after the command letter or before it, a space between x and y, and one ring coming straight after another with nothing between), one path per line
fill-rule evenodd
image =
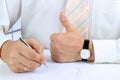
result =
M120 39L93 40L95 63L120 63Z

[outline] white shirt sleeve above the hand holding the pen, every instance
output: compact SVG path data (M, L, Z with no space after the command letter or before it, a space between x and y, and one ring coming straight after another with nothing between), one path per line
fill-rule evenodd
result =
M20 17L21 0L0 0L0 48L8 40L6 34Z

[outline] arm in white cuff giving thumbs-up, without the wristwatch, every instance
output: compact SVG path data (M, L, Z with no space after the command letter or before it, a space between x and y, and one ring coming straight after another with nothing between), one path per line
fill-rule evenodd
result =
M55 33L51 36L51 57L57 62L79 61L84 38L63 14L60 19L66 32ZM89 61L115 63L117 60L116 42L120 43L120 40L90 40L89 49L92 56ZM119 49L117 50L119 51Z

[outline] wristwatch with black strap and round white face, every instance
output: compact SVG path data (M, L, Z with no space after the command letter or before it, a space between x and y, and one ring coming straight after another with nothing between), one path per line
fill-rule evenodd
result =
M83 43L83 49L80 52L80 57L82 61L87 62L90 58L90 50L89 50L89 40L85 39Z

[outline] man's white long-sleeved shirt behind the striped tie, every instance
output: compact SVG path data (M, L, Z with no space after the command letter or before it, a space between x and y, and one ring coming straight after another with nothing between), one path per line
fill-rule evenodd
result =
M89 39L94 42L95 62L119 62L119 3L120 0L91 0ZM50 35L62 31L59 14L65 5L66 0L0 0L0 45L21 15L23 38L35 38L49 48Z

